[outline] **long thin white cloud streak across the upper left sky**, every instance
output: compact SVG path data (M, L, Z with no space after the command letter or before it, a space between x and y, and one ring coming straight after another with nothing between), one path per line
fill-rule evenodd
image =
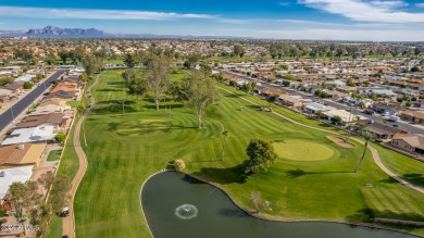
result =
M84 20L177 20L177 18L214 18L208 14L149 12L127 10L88 10L88 9L49 9L20 8L0 5L2 16L32 18L84 18Z

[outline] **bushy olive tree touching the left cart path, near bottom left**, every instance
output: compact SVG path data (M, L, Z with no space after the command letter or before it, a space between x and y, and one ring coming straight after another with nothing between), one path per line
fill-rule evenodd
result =
M68 202L67 192L71 190L71 180L64 174L58 174L50 191L49 201L54 213L62 212Z

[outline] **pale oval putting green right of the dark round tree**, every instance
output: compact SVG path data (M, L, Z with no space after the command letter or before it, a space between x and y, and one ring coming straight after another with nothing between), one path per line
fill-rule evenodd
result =
M304 140L284 140L273 146L279 158L295 161L322 161L334 155L332 148Z

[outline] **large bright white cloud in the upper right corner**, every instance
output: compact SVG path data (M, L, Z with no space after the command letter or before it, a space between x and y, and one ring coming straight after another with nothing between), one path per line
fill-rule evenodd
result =
M424 23L424 13L412 13L400 10L399 8L408 5L408 3L400 0L298 0L298 3L333 14L339 14L353 21Z

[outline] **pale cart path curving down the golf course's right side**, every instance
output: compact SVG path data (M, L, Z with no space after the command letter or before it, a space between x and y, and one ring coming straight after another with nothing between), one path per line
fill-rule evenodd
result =
M224 90L224 91L226 91L226 92L236 95L236 93L234 93L233 91L229 91L229 90L227 90L227 89L225 89L225 88L222 88L222 87L220 87L220 86L216 86L216 87L219 87L220 89L222 89L222 90ZM236 95L236 96L238 96L238 95ZM245 101L247 101L247 102L253 104L253 105L261 107L260 104L258 104L258 103L255 103L255 102L253 102L253 101L250 101L249 99L242 98L242 97L240 97L240 96L238 96L238 97L239 97L240 99L242 99L242 100L245 100ZM291 123L294 123L294 124L296 124L296 125L299 125L299 126L303 126L303 127L308 127L308 128L311 128L311 129L321 130L321 131L324 131L324 133L329 133L329 134L334 134L334 135L341 136L340 134L335 133L335 131L332 131L332 130L327 130L327 129L323 129L323 128L319 128L319 127L314 127L314 126L304 125L304 124L302 124L302 123L299 123L299 122L297 122L297 121L294 121L294 120L291 120L291 118L289 118L289 117L287 117L287 116L284 116L284 115L282 115L282 114L279 114L279 113L276 113L276 112L272 112L272 113L273 113L274 115L278 116L278 117L282 117L282 118L284 118L284 120L287 120L287 121L289 121L289 122L291 122ZM357 139L357 138L351 138L351 139L354 140L354 141L357 141L357 142L359 142L359 143L361 143L361 145L364 145L364 142L363 142L362 140L360 140L360 139ZM395 174L395 173L391 172L389 168L387 168L386 165L383 164L382 159L379 158L379 154L378 154L377 150L376 150L374 147L369 146L367 148L371 150L371 153L372 153L372 155L373 155L374 162L375 162L375 163L378 165L378 167L379 167L382 171L384 171L388 176L390 176L391 178L396 179L396 180L399 181L400 184L402 184L402 185L404 185L404 186L407 186L407 187L409 187L409 188L412 188L412 189L414 189L415 191L421 192L421 193L424 195L424 189L423 189L423 188L417 187L417 186L415 186L415 185L412 185L411 183L409 183L409 181L402 179L399 175Z

